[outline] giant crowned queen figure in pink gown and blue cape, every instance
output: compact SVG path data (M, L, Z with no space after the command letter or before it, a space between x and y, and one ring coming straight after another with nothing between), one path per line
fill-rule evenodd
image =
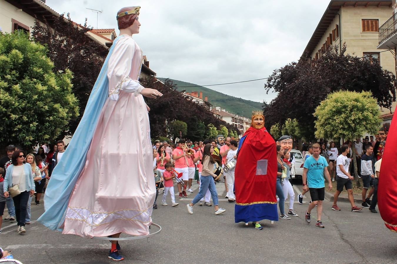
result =
M140 7L117 15L114 40L69 146L52 172L39 221L82 237L149 233L156 194L148 108L143 96L162 94L139 84ZM73 169L70 169L74 166ZM116 241L109 257L117 259ZM122 258L122 257L121 257ZM118 259L118 260L119 260Z

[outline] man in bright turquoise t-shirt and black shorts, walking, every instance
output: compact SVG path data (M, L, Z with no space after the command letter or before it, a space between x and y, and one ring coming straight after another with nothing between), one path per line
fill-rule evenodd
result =
M320 156L320 144L314 143L312 145L312 156L306 158L303 165L303 190L306 192L310 191L310 196L312 197L304 218L306 222L310 223L310 212L317 205L316 226L320 228L324 228L321 222L322 201L324 201L325 194L324 175L328 180L329 190L332 189L331 177L327 167L327 160L323 156ZM307 185L305 183L306 180Z

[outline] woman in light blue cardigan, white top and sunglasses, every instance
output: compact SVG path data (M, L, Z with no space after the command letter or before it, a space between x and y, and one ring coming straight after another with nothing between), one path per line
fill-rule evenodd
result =
M19 184L19 191L21 194L14 196L15 216L17 218L19 234L26 233L26 207L29 195L33 196L35 193L35 182L33 181L32 167L25 162L25 154L20 150L15 150L12 154L12 164L8 166L6 177L4 178L3 190L4 196L10 196L8 189L13 185Z

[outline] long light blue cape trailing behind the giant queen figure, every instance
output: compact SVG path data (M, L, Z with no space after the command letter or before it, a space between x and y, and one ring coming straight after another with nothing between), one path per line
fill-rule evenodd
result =
M116 38L112 47L110 47L105 63L91 91L83 118L81 118L73 134L62 156L62 160L52 171L51 179L48 182L44 195L45 212L38 221L52 230L62 231L61 226L65 221L71 193L85 166L87 152L90 148L100 113L109 96L108 61L114 46L116 46L116 42L120 38L120 36ZM87 74L90 73L87 72Z

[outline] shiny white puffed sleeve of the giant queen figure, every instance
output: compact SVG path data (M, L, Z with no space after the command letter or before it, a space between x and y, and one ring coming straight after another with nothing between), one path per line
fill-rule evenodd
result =
M108 63L109 97L111 100L117 101L119 90L135 93L137 96L144 88L139 81L129 77L135 48L135 42L129 37L123 37L116 42Z

